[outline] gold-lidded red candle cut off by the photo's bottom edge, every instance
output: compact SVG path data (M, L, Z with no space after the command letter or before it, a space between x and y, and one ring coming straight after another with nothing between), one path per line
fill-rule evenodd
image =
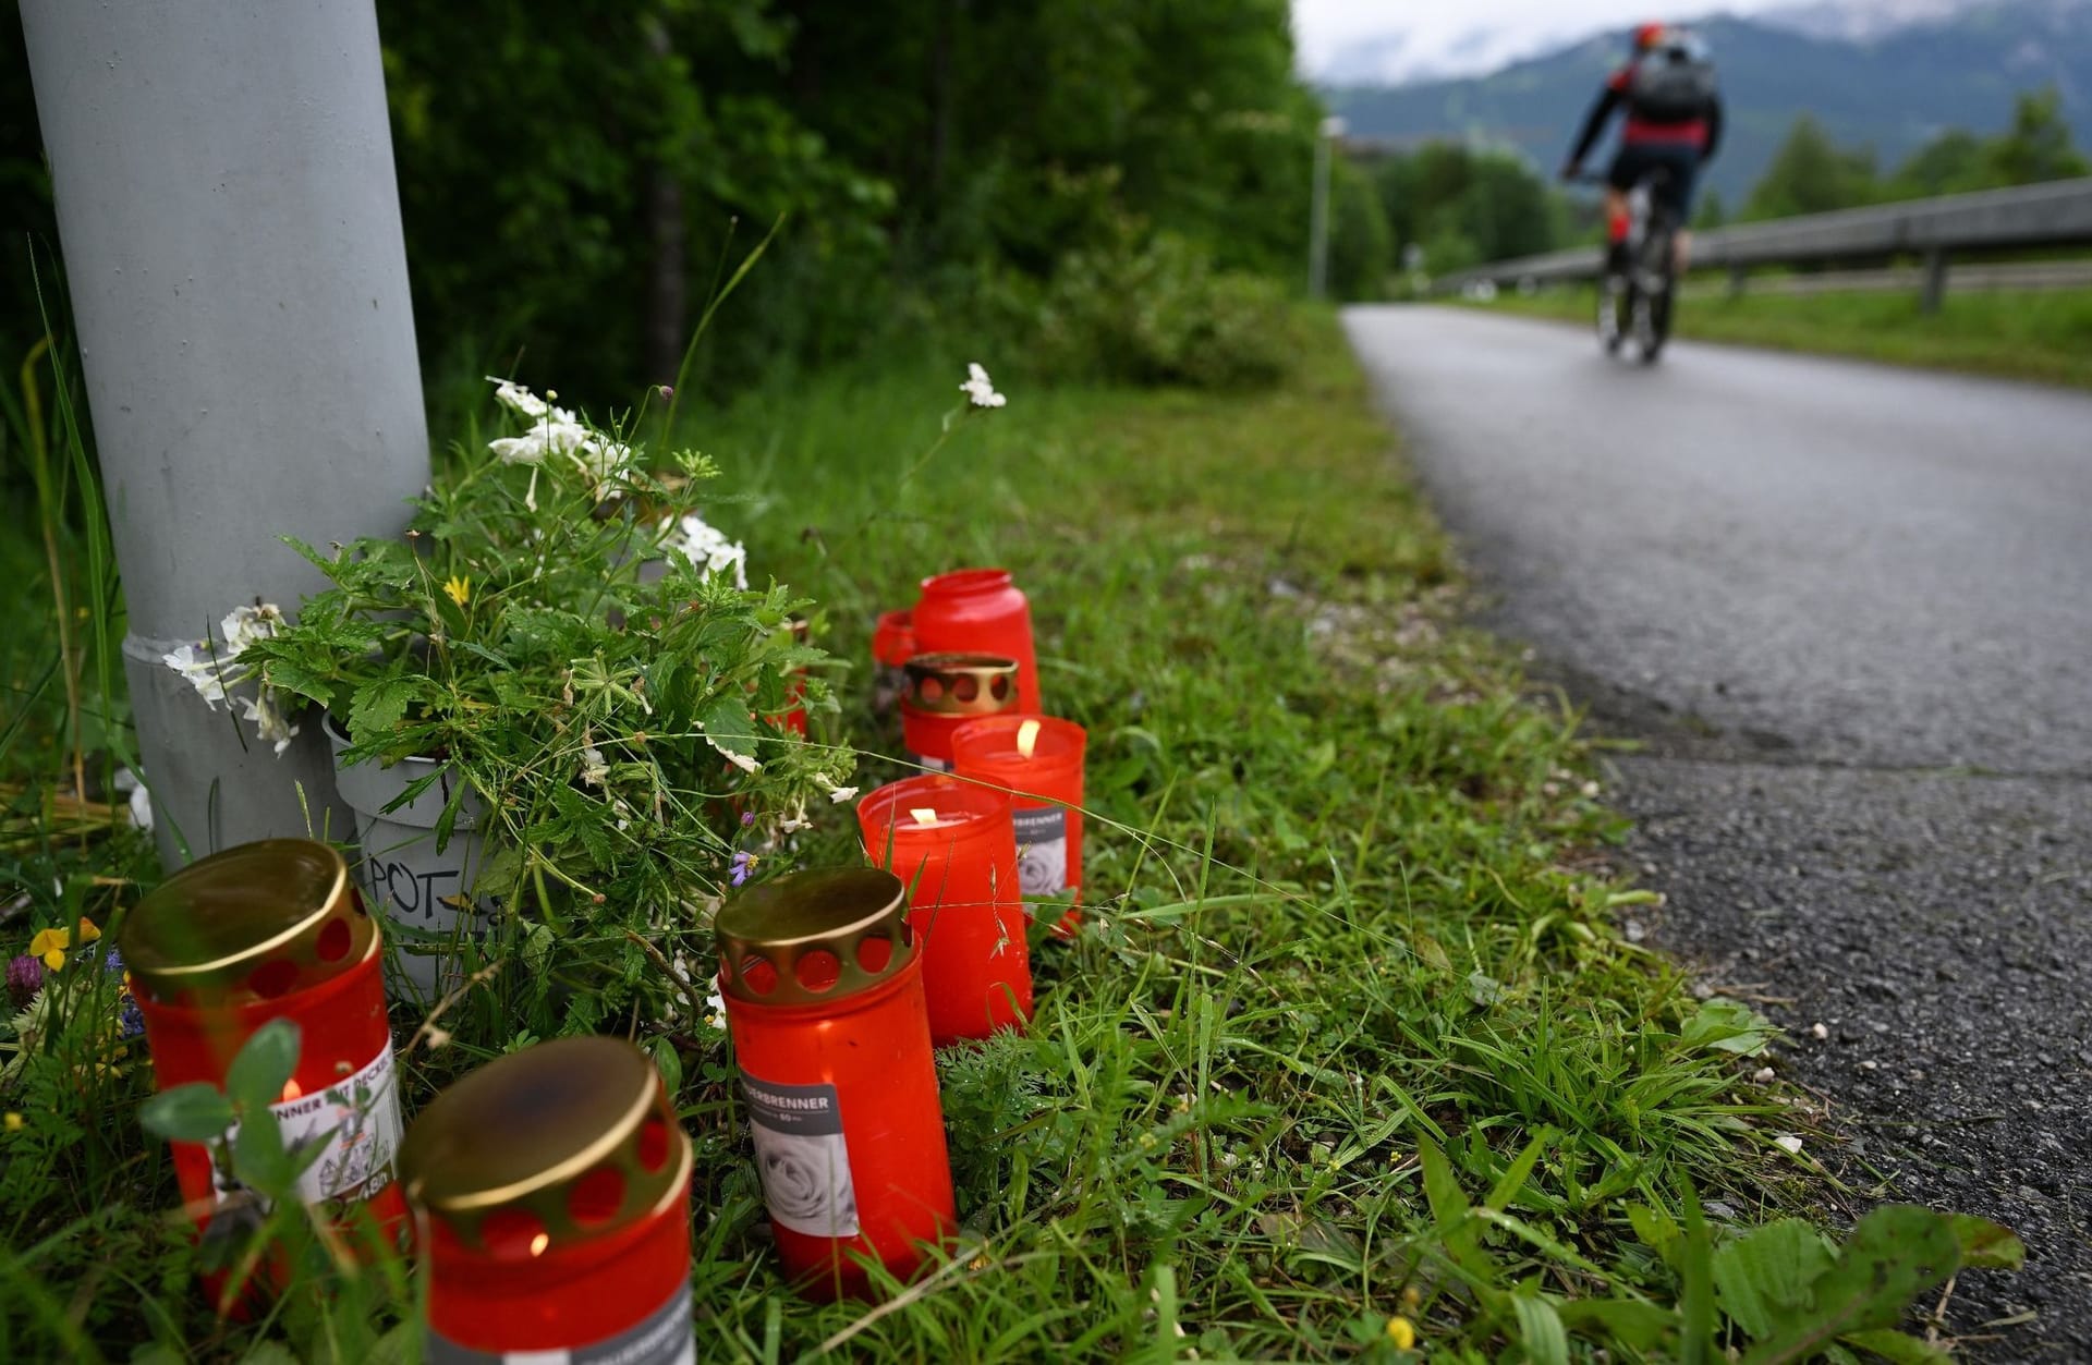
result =
M487 1062L400 1148L429 1273L429 1361L684 1365L690 1139L632 1043Z

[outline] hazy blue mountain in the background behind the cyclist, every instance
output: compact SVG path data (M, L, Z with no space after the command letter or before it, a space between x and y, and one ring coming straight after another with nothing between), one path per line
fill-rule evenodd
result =
M2054 86L2071 128L2092 142L2092 0L1818 0L1695 29L1722 69L1728 134L1707 176L1730 205L1801 113L1889 167L1948 128L1998 132L2021 92ZM1351 138L1494 142L1552 171L1623 56L1617 36L1588 38L1494 75L1324 96Z

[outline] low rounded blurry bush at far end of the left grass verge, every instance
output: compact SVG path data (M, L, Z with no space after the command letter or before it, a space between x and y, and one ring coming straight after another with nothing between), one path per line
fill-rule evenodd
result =
M1069 255L1046 288L1038 355L1059 376L1261 389L1299 353L1284 288L1218 270L1174 234Z

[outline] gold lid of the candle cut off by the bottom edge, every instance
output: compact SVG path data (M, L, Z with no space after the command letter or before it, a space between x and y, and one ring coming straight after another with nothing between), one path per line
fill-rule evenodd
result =
M690 1173L661 1074L632 1043L552 1039L429 1102L400 1143L400 1187L464 1246L540 1256L659 1210Z

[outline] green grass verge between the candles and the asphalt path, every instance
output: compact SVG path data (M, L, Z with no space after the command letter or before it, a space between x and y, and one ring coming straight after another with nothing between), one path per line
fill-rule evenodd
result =
M841 661L920 575L1010 566L1048 707L1090 730L1094 813L1090 922L1036 953L1031 1031L941 1064L962 1246L889 1304L784 1290L724 1041L690 1041L699 1359L1638 1361L1692 1359L1720 1321L1774 1332L1736 1248L1810 1162L1745 1077L1764 1024L1615 932L1646 895L1607 870L1619 826L1571 719L1456 623L1443 535L1335 326L1312 337L1261 395L1004 376L1010 406L912 475L958 366L699 422L743 489L707 514L826 604ZM841 692L814 738L895 753L864 671ZM822 815L770 865L851 857L847 811ZM15 924L63 913L42 888L94 857L115 853L23 849ZM437 1070L408 1062L410 1110ZM132 1116L142 1077L44 1066L6 1091L0 1357L389 1348L368 1294L209 1319ZM1816 1235L1795 1227L1770 1231ZM1895 1288L1887 1321L1916 1283L1854 1279ZM1718 1281L1741 1286L1726 1319Z

